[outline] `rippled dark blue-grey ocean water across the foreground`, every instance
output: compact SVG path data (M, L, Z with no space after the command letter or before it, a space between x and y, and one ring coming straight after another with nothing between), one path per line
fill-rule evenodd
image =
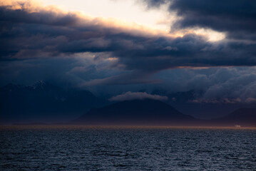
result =
M256 170L256 130L2 128L0 170Z

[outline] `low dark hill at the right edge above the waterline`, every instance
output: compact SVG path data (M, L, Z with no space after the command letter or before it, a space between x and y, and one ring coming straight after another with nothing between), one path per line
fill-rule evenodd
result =
M241 125L256 126L256 108L240 108L222 118L213 119L210 123L222 126Z

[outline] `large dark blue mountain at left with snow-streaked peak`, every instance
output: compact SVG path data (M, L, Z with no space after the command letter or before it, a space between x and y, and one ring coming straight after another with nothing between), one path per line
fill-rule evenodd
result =
M8 84L0 88L0 120L1 123L71 120L104 103L88 90L60 88L45 81L34 86Z

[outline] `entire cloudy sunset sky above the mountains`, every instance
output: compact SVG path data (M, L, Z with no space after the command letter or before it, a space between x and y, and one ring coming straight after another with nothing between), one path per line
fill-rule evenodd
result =
M0 86L256 104L256 1L0 0L0 22Z

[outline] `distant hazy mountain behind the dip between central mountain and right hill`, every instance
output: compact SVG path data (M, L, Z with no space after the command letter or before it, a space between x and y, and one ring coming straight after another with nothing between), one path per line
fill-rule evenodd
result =
M155 89L151 94L168 96L168 105L173 106L181 113L192 115L195 118L210 120L220 118L237 108L255 108L255 103L205 103L204 90L189 90L183 92L168 93L166 90Z

